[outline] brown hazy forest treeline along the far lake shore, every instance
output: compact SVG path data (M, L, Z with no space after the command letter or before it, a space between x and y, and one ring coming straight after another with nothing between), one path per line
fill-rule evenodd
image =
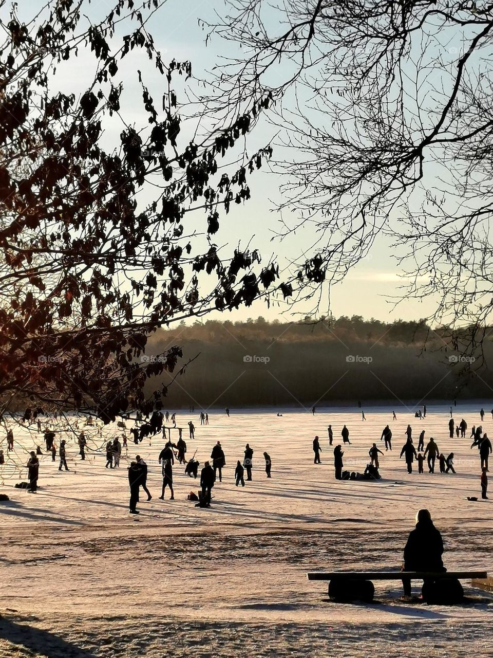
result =
M179 367L197 357L183 374L160 378L169 385L165 404L170 409L493 397L491 340L482 341L479 375L479 357L471 368L459 361L469 353L473 331L361 316L207 320L159 330L147 343L145 358L175 344L183 347ZM481 337L476 334L475 340Z

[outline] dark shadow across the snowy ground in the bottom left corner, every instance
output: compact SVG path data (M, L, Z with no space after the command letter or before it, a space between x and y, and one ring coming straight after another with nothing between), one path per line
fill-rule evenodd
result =
M0 619L0 638L50 658L95 658L93 653L66 642L47 630L19 624L5 617Z

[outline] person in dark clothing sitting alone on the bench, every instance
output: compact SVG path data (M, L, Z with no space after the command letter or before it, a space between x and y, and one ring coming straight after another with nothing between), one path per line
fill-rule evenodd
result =
M440 532L433 525L427 509L416 515L416 528L411 530L404 547L404 571L446 571L442 561L443 542ZM411 580L402 578L404 595L411 595Z

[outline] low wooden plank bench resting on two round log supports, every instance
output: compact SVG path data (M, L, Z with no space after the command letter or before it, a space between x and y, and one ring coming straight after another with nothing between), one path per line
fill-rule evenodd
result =
M310 571L308 580L329 580L329 597L335 601L373 600L372 580L423 580L427 603L458 603L463 598L459 580L486 579L486 571Z

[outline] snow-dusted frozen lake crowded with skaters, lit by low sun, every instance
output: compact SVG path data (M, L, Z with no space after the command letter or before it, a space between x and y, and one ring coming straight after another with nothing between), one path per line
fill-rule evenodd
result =
M493 571L491 501L466 500L467 495L481 496L479 454L470 449L470 429L482 424L493 436L493 404L482 406L482 423L481 403L453 409L457 424L461 418L467 422L465 439L449 438L449 404L429 405L423 420L414 417L411 407L396 405L393 421L390 405L364 406L365 421L357 408L349 407L317 408L315 415L294 409L231 409L229 418L223 411L210 411L208 426L200 426L199 413L178 412L177 426L187 428L189 420L195 424L195 440L189 439L188 430L183 438L187 457L197 449L199 472L218 440L225 452L223 482L216 482L210 509L187 501L199 480L186 476L177 464L176 499L168 500L168 493L164 501L158 499L157 457L164 440L156 435L134 445L130 421L128 455L124 451L119 470L105 469L105 443L122 430L116 424L106 426L100 436L99 427L85 427L89 451L82 462L75 441L82 419L78 429L76 418L69 418L68 424L55 427L60 430L55 442L58 447L60 437L66 438L70 472L59 472L58 461L43 453L39 492L14 489L19 478L26 480L21 467L27 451L37 444L43 447L35 424L14 425L14 452L0 467L0 493L11 497L11 503L0 507L2 610L15 609L19 624L37 629L35 638L41 649L51 647L50 656L162 656L166 651L332 655L335 647L348 656L375 651L442 656L444 646L448 656L471 651L486 655L482 636L492 619L492 603L406 604L399 599L400 584L390 581L376 585L380 604L337 605L326 600L323 583L306 580L307 570L398 569L421 507L430 509L442 532L446 567ZM278 412L283 416L277 417ZM427 472L426 463L424 474L417 474L417 463L408 474L404 457L399 459L408 423L415 446L425 430L425 445L433 436L444 455L454 452L456 475L440 474L438 462L434 474ZM379 455L382 480L335 480L329 424L334 445L342 443L343 424L350 431L344 469L363 472L369 447L377 443L384 452ZM380 441L386 424L393 434L391 452ZM313 463L316 434L320 465ZM177 432L172 438L177 439ZM254 450L253 481L236 488L235 465L243 460L246 443ZM6 444L4 439L1 447L7 456ZM264 451L272 458L270 480ZM131 517L126 466L137 453L149 465L147 486L153 500L147 502L141 494L141 514ZM493 482L489 493L493 498ZM12 642L20 633L13 626L2 628ZM50 630L49 637L40 629ZM68 649L60 648L60 638L74 653L63 653ZM2 648L12 655L11 646L1 642L0 655Z

